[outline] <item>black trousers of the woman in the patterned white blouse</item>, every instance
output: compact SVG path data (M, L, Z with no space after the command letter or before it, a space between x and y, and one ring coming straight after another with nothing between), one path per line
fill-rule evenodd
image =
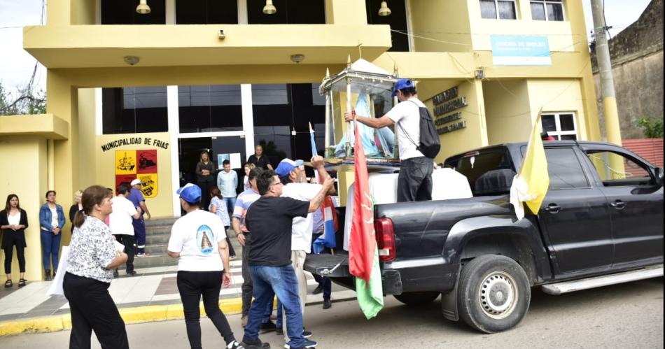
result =
M62 288L71 312L70 349L90 348L92 331L102 349L129 349L125 322L109 294L110 283L64 274Z

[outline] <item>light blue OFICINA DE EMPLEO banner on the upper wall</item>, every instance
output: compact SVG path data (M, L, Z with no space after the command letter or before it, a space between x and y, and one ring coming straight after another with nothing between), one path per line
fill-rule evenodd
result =
M495 66L549 66L547 36L492 35L492 62Z

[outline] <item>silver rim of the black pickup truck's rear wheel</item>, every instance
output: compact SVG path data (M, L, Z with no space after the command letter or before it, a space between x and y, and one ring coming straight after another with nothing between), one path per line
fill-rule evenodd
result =
M495 271L484 278L478 297L480 307L487 316L503 319L514 310L519 292L512 276Z

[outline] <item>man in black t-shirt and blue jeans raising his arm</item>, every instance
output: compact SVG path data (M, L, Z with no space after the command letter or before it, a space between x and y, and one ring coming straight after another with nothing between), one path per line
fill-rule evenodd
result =
M280 197L282 183L274 171L264 171L256 178L260 199L254 201L245 215L245 224L252 236L249 251L249 269L253 280L254 301L249 309L249 320L243 337L244 348L263 348L258 339L265 308L277 295L286 312L289 348L312 348L316 342L302 336L302 311L298 298L297 278L291 265L291 226L293 218L306 217L321 207L325 193L332 187L326 178L311 201Z

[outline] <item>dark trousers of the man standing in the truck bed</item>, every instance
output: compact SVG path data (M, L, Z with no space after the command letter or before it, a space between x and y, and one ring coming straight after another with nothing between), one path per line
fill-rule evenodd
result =
M401 160L397 202L431 200L433 171L434 160L428 157Z

